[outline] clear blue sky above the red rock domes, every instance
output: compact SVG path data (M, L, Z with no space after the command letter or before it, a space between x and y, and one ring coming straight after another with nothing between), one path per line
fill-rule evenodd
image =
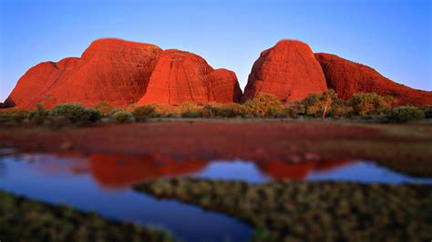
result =
M67 4L63 2L68 2ZM233 70L244 88L283 38L432 89L432 1L0 0L0 100L28 68L79 56L101 37L178 48Z

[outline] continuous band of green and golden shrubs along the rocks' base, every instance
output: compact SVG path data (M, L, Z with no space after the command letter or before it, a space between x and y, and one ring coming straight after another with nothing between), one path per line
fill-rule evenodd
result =
M47 110L38 105L30 112L18 109L0 111L0 124L22 124L27 121L47 126L88 126L103 122L118 124L146 122L149 118L356 118L375 122L406 123L424 118L432 118L432 106L390 106L387 102L395 98L378 96L375 93L357 93L349 100L337 97L329 89L321 94L311 94L303 100L283 104L276 96L260 93L244 104L209 103L197 105L184 102L180 105L129 106L125 109L114 108L112 104L100 103L93 108L77 104L63 104Z

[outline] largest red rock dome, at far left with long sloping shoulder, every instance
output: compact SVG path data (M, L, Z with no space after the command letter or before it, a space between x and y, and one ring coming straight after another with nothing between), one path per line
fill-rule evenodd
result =
M156 45L118 39L93 42L80 58L44 62L22 76L6 106L34 108L61 103L127 106L144 95L162 50Z

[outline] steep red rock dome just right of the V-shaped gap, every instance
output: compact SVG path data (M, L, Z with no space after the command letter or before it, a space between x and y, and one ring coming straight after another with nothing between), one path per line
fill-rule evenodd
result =
M264 50L252 66L242 102L260 92L277 96L283 102L303 99L327 90L321 66L309 45L282 40Z

